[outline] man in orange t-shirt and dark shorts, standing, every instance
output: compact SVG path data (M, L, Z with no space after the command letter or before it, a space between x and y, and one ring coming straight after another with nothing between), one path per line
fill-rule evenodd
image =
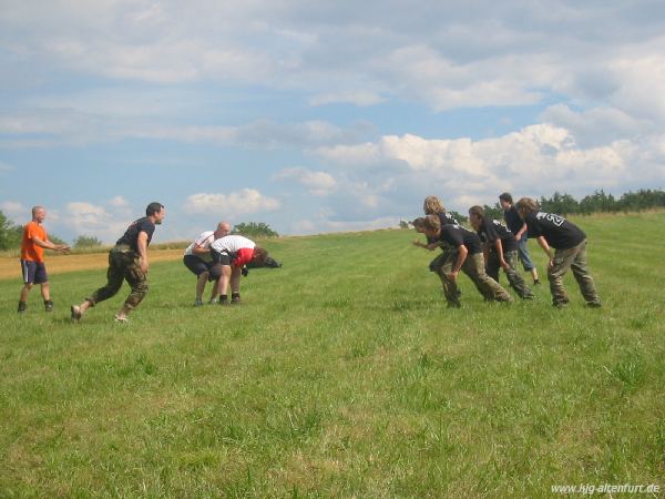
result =
M53 244L49 241L47 231L42 222L47 217L47 211L43 206L32 208L32 221L23 227L23 240L21 241L21 271L23 273L23 287L19 298L19 314L23 314L28 307L28 293L34 284L41 285L42 298L44 298L44 308L47 312L53 309L51 293L49 288L49 276L44 266L44 248L57 252L66 252L69 246L65 244Z

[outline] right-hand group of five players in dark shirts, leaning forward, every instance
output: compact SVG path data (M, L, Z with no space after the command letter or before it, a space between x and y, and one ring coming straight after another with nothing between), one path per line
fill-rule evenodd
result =
M470 231L446 211L437 196L426 197L424 216L412 222L416 231L427 237L427 243L415 241L416 246L429 251L441 248L441 254L430 263L430 271L441 279L448 306L460 307L461 294L457 284L460 272L469 276L485 301L513 302L510 293L499 284L501 268L520 298L533 299L531 287L518 269L518 261L521 259L524 269L531 273L534 284L540 284L526 247L528 237L534 237L549 258L552 304L555 307L567 305L563 277L572 269L586 306L600 307L601 299L589 269L584 232L560 215L540 211L530 197L513 204L511 194L503 193L499 201L508 226L485 216L482 206L472 206L469 222L475 232Z

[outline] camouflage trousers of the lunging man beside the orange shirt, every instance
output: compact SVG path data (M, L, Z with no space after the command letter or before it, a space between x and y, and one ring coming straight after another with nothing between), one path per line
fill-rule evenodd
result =
M106 281L105 286L100 287L92 296L85 298L92 306L115 296L123 281L126 281L132 287L130 296L125 299L129 309L139 306L147 294L147 279L141 271L141 257L125 246L115 246L109 253Z

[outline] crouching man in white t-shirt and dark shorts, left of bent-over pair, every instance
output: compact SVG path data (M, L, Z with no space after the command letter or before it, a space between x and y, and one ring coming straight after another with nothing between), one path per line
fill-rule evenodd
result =
M211 302L217 299L217 282L222 276L222 267L216 265L211 257L211 244L213 241L224 237L231 233L231 224L228 222L219 222L216 231L206 231L202 233L187 248L183 256L185 266L196 275L196 302L194 306L203 305L203 292L205 283L215 281L211 293Z

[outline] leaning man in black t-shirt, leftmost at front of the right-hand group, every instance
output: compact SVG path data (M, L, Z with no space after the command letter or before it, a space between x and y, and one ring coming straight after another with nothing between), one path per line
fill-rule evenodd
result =
M413 224L428 238L436 238L456 248L449 252L437 274L443 285L443 294L449 307L460 306L460 293L457 278L462 271L473 282L487 301L512 302L510 294L491 278L484 269L482 244L478 235L461 225L443 225L437 215L428 215Z

